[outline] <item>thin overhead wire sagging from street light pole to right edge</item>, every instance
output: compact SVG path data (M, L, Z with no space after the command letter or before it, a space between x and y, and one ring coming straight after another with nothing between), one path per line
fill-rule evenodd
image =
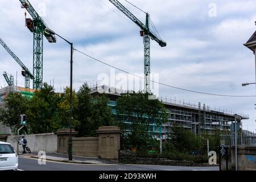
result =
M129 74L129 75L133 75L133 76L135 76L135 77L142 78L142 79L144 80L144 78L141 77L141 76L138 76L138 75L135 75L135 74L133 74L133 73L127 72L127 71L125 71L125 70L123 70L123 69L114 67L113 65L110 65L110 64L108 64L108 63L105 63L104 61L101 61L101 60L98 60L98 59L96 59L96 58L94 58L94 57L92 57L92 56L89 56L89 55L87 55L86 53L77 50L76 48L74 48L74 50L77 51L77 52L79 52L79 53L81 53L82 55L85 55L85 56L87 56L87 57L90 57L91 59L96 60L96 61L98 61L98 62L100 62L100 63L102 63L102 64L108 65L109 67L112 67L112 68L114 68L114 69L117 69L117 70L119 70L119 71L121 71L121 72L125 72L125 73L127 73L127 74ZM179 88L179 87L172 86L172 85L168 85L168 84L163 84L163 83L161 83L161 82L157 82L157 81L154 81L154 80L150 80L150 81L151 81L151 82L154 82L154 83L156 83L156 84L159 84L159 85L163 85L163 86L170 87L170 88L179 89L179 90L184 90L184 91L192 92L192 93L205 94L205 95L210 95L210 96L221 96L221 97L256 97L256 96L232 96L232 95L224 95L224 94L214 94L214 93L206 93L206 92L197 92L197 91L194 91L194 90L188 90L188 89L183 89L183 88Z

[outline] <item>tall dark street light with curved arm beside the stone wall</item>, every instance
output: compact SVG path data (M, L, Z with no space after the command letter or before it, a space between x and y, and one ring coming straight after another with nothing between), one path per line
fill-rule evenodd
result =
M70 99L69 99L69 111L70 111L70 133L69 133L69 152L68 152L68 160L72 160L72 119L73 119L73 114L72 114L72 80L73 80L73 43L69 42L68 40L64 39L62 36L56 34L54 31L52 31L49 28L46 28L44 30L46 34L51 34L51 35L57 35L61 39L65 40L65 42L69 43L71 46L71 60L70 60Z

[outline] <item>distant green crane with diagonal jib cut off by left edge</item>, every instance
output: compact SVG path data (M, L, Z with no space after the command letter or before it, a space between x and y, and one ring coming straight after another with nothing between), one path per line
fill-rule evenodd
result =
M30 79L34 79L34 76L30 73L28 68L20 61L19 57L11 51L11 49L6 45L5 42L0 38L0 44L6 49L7 52L13 57L13 59L22 67L22 76L25 77L25 88L29 89L30 88Z

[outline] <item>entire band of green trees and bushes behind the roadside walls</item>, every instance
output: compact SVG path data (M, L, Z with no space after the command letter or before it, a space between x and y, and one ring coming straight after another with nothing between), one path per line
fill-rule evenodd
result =
M46 83L30 100L19 93L10 93L5 98L5 109L0 108L0 121L11 127L14 134L20 127L20 114L27 115L27 127L23 130L27 134L50 133L70 127L69 93L68 87L64 93L56 93ZM204 163L208 162L207 140L210 150L218 152L218 131L203 132L199 136L174 125L162 144L160 155L160 140L154 130L159 130L166 122L168 112L162 102L148 99L149 94L122 94L113 108L108 105L109 98L105 94L92 97L87 84L83 84L77 93L73 90L72 94L72 127L79 131L78 137L96 137L98 127L118 125L123 131L121 149L132 150L138 157Z

